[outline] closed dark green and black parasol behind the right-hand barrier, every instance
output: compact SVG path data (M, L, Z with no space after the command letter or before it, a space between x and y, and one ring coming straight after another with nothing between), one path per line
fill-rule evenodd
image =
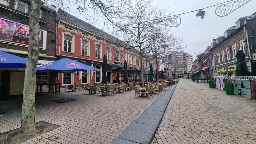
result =
M250 71L248 69L245 56L246 55L242 50L238 50L236 54L236 76L250 76Z

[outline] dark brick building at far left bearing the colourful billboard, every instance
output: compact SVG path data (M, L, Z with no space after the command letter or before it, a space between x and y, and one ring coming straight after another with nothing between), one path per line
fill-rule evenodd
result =
M46 64L56 59L56 8L43 5L40 14L40 53L38 62ZM0 51L23 58L28 57L30 5L19 0L4 0L0 4ZM21 95L24 85L24 69L0 70L0 86L7 95ZM55 73L38 72L37 83L54 83ZM43 91L53 91L54 87L43 86Z

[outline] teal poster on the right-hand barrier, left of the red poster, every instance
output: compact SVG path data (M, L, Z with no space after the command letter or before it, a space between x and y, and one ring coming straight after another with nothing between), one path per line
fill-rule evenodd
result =
M235 95L251 98L251 83L248 80L233 80Z

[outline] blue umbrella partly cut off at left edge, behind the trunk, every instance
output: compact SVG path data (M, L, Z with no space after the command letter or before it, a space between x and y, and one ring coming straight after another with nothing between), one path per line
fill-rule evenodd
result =
M0 51L0 68L25 68L27 61L25 58Z

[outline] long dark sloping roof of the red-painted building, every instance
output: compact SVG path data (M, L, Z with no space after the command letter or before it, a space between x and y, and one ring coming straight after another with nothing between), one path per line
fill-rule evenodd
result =
M71 14L68 14L67 12L63 11L61 8L59 8L57 11L57 19L71 23L77 27L80 27L81 29L84 29L92 34L96 34L96 35L98 35L102 38L105 38L107 40L110 40L118 45L124 45L128 48L131 47L131 45L129 45L128 43L119 40L118 38L108 34L107 32L105 32L101 29L98 29L95 26L93 26L93 25L91 25L91 24L71 15ZM138 50L136 50L135 48L131 48L131 49L138 52Z

